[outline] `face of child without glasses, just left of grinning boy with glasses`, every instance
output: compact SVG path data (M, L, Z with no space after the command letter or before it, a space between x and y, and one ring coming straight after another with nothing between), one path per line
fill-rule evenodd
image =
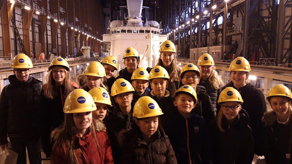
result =
M168 81L165 78L154 78L150 82L154 94L158 97L164 96L165 89L168 87Z

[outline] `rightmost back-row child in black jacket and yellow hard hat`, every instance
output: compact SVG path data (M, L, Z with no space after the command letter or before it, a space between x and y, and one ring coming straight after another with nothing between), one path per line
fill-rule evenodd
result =
M248 81L251 66L244 57L237 57L234 59L230 63L228 71L230 71L231 81L222 87L222 90L226 87L233 87L240 92L240 95L244 100L244 103L242 103L241 106L247 111L250 117L248 125L253 130L255 153L262 156L263 140L260 136L263 127L261 118L267 110L265 96L261 90Z

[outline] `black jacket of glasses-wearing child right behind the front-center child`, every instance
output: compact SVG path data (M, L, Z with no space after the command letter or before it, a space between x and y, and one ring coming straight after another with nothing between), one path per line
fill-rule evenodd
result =
M115 163L121 162L121 147L118 144L117 136L119 132L123 129L132 129L133 121L133 108L135 103L131 103L130 114L123 114L119 107L119 104L115 106L113 114L105 118L104 122L107 128L109 135L109 140L112 145L112 154L115 160Z

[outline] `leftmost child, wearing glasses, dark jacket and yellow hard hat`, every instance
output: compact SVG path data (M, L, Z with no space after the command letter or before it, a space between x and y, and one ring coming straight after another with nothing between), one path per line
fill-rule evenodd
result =
M43 83L29 76L33 65L27 55L16 55L11 67L14 74L8 76L10 84L0 96L0 147L8 146L8 135L12 150L18 153L17 163L26 163L26 147L29 162L41 163L38 113Z

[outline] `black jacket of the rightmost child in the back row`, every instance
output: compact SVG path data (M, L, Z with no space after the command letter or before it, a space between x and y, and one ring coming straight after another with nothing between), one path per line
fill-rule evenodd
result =
M222 90L226 87L235 88L232 81L225 85ZM243 104L241 105L241 107L247 111L250 117L250 122L248 123L248 125L253 130L255 153L257 155L263 156L263 140L261 139L261 130L263 127L263 123L261 119L265 111L267 110L265 96L263 92L256 88L252 83L247 83L244 87L235 89L239 91L243 99Z

